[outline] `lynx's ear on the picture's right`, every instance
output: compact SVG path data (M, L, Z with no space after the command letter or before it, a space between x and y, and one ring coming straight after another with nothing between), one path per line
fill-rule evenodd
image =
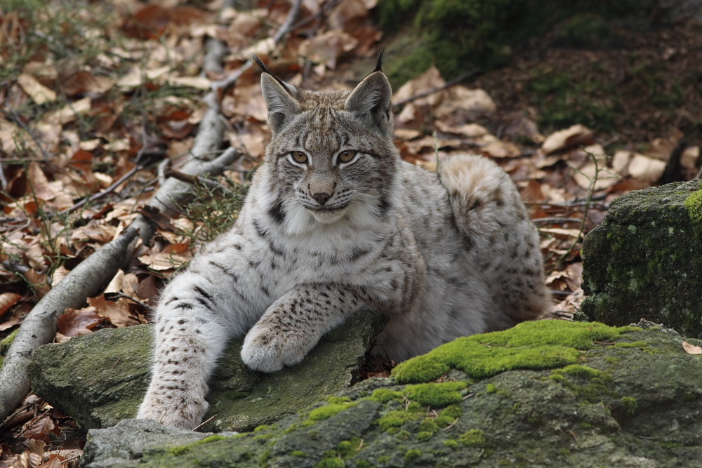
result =
M375 126L387 135L392 135L390 117L390 81L380 70L366 78L351 91L345 102L345 109L361 117L370 126Z

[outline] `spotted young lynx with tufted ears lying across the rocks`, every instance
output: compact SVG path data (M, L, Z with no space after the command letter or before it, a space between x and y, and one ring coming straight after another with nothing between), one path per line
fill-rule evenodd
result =
M272 140L239 218L165 288L138 417L192 428L230 337L274 372L360 311L388 320L395 361L548 307L534 225L495 163L461 154L430 173L392 143L380 70L351 92L291 86L263 62Z

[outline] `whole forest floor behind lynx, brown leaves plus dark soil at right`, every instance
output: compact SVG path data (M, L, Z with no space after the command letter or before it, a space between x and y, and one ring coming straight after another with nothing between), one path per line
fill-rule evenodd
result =
M290 4L260 4L36 0L0 7L0 339L144 212L164 174L187 158L207 108L203 95L213 81L239 73L249 53L312 89L349 88L362 79L359 69L373 69L383 41L373 24L375 0L304 1L279 44L271 37ZM610 201L698 176L701 29L672 22L622 30L624 48L545 41L509 67L447 88L432 68L395 91L397 145L428 170L470 151L510 173L541 232L554 314L568 319L583 298L581 241ZM227 53L221 69L204 70L212 37ZM251 67L218 94L224 146L244 156L216 184L195 184L195 201L182 213L159 218L154 238L104 290L86 307L66 310L55 342L147 323L165 279L233 222L269 139L258 77ZM32 394L0 434L0 467L73 466L85 441L67 415Z

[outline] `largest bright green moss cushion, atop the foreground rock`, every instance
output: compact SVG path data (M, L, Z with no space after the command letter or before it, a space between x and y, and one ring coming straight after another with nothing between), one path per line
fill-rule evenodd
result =
M505 331L458 338L400 363L392 376L400 383L430 382L451 368L482 378L510 369L563 367L576 363L595 341L612 340L629 330L602 323L529 321Z

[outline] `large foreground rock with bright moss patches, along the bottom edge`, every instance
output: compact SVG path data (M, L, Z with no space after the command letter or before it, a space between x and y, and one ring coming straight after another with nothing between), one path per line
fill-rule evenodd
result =
M254 432L154 441L113 466L696 466L702 356L683 340L526 322L460 338ZM104 432L90 432L88 468L105 466L98 446L113 460L133 450L133 434L108 443Z

